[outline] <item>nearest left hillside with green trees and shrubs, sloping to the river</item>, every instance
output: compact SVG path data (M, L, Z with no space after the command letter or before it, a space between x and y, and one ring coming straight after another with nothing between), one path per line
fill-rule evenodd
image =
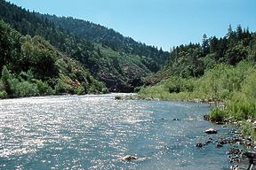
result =
M22 36L0 19L0 97L106 91L74 59L36 35Z

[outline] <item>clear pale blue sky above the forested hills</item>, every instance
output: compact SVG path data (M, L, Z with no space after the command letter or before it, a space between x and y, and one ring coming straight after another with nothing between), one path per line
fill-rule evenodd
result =
M256 30L256 0L10 0L29 10L114 28L150 45L170 47L218 37L228 25Z

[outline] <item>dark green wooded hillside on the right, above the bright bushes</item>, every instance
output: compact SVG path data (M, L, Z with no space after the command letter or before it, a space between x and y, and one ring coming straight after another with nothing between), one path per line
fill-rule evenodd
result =
M172 48L164 68L148 77L148 84L154 84L172 75L181 78L200 77L207 70L218 64L236 66L241 60L256 61L256 34L248 28L237 26L236 30L228 27L224 37L203 35L203 42L189 43Z

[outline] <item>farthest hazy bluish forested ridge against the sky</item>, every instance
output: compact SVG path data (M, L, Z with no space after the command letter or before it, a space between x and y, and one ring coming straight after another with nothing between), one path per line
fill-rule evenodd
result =
M67 30L74 35L82 36L91 42L98 42L103 46L108 46L112 50L123 51L127 54L144 56L151 58L150 63L144 63L152 72L156 72L170 56L169 52L158 50L154 46L148 46L145 43L136 42L131 37L124 37L114 29L94 24L83 19L74 19L72 17L57 17L55 15L38 15L43 19L52 20L56 26ZM154 65L152 64L154 62Z

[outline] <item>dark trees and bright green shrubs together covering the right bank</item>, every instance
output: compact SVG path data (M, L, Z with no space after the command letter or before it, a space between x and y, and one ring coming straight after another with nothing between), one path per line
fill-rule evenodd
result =
M256 140L256 33L241 26L224 37L203 36L201 44L173 48L164 68L145 81L140 98L178 99L219 104L217 122L241 121L244 135Z

